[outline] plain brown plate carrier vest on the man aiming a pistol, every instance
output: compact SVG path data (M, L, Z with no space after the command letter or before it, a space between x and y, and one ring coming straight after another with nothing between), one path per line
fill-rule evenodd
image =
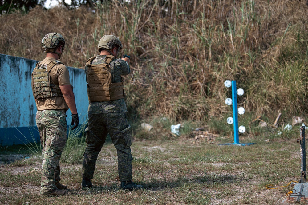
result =
M111 66L114 56L108 55L105 63L94 65L95 57L87 60L87 91L89 101L112 101L124 98L123 82L112 83Z

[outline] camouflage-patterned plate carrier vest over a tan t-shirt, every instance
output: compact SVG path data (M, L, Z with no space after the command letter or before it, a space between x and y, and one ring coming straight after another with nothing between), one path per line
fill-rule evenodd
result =
M50 83L50 70L60 61L52 61L45 67L38 62L32 72L32 92L35 99L63 96L59 85Z

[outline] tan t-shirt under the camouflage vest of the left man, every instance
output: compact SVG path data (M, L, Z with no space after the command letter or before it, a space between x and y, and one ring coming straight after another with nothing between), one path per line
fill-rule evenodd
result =
M41 61L40 65L43 64L44 66L47 67L47 65L50 62L55 60L56 60L55 58L48 57L45 58L43 61ZM68 69L63 64L55 65L49 72L49 75L50 75L50 82L53 84L57 84L59 86L71 85ZM65 111L68 110L68 106L63 96L36 99L36 107L39 111L59 110L59 109L64 109Z

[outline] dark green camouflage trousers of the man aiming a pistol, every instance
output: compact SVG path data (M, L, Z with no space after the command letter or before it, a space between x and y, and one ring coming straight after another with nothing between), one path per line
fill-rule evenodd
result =
M120 181L132 180L132 154L130 125L125 112L88 114L86 150L83 154L82 178L93 179L97 156L109 133L118 154L118 172Z

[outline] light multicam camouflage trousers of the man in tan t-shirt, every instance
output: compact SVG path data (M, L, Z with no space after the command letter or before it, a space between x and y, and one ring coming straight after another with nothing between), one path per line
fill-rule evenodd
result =
M66 143L66 115L59 110L37 111L35 117L43 146L42 183L40 193L48 193L60 181L60 157Z

